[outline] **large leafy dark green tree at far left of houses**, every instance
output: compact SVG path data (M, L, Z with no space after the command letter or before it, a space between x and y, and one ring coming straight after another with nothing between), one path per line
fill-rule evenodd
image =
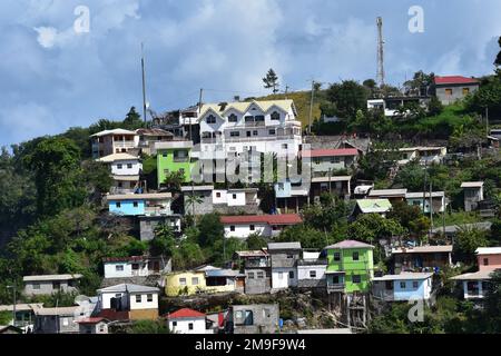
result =
M71 140L46 138L26 157L26 162L35 172L40 216L57 215L84 202L80 150Z

